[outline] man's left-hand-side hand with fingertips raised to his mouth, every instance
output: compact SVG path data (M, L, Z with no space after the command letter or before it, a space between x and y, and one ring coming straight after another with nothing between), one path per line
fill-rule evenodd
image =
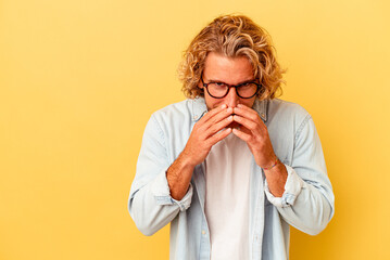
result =
M194 167L205 159L211 147L229 135L231 128L225 127L232 122L232 108L227 105L218 106L207 112L194 126L183 151L183 157Z

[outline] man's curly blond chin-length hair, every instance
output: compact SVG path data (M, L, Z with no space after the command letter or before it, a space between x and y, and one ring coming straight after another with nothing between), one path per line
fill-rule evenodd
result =
M247 56L253 65L256 81L263 87L257 99L274 99L281 94L285 70L276 62L267 31L247 16L223 15L204 27L184 53L178 74L187 98L204 95L198 86L210 52L228 57Z

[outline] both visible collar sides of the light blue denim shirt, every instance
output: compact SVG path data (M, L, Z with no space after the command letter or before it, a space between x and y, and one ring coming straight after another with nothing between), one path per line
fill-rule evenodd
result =
M267 108L268 108L268 100L255 100L253 104L253 109L259 113L259 116L263 121L267 120ZM192 121L198 121L205 113L207 112L207 107L205 105L204 98L198 96L192 100Z

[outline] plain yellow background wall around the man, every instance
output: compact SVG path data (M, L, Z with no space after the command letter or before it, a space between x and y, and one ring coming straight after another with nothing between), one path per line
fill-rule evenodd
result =
M387 0L0 0L0 259L167 259L127 212L152 112L184 99L192 37L239 12L273 36L336 195L291 259L390 259Z

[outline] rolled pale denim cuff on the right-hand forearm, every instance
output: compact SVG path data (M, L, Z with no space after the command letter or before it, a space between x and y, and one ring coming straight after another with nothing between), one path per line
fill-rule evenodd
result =
M287 169L287 181L285 184L285 192L281 197L275 197L268 188L267 180L265 180L264 191L265 194L273 205L276 207L289 207L295 202L297 196L301 193L303 186L303 180L297 174L295 170L286 166Z

